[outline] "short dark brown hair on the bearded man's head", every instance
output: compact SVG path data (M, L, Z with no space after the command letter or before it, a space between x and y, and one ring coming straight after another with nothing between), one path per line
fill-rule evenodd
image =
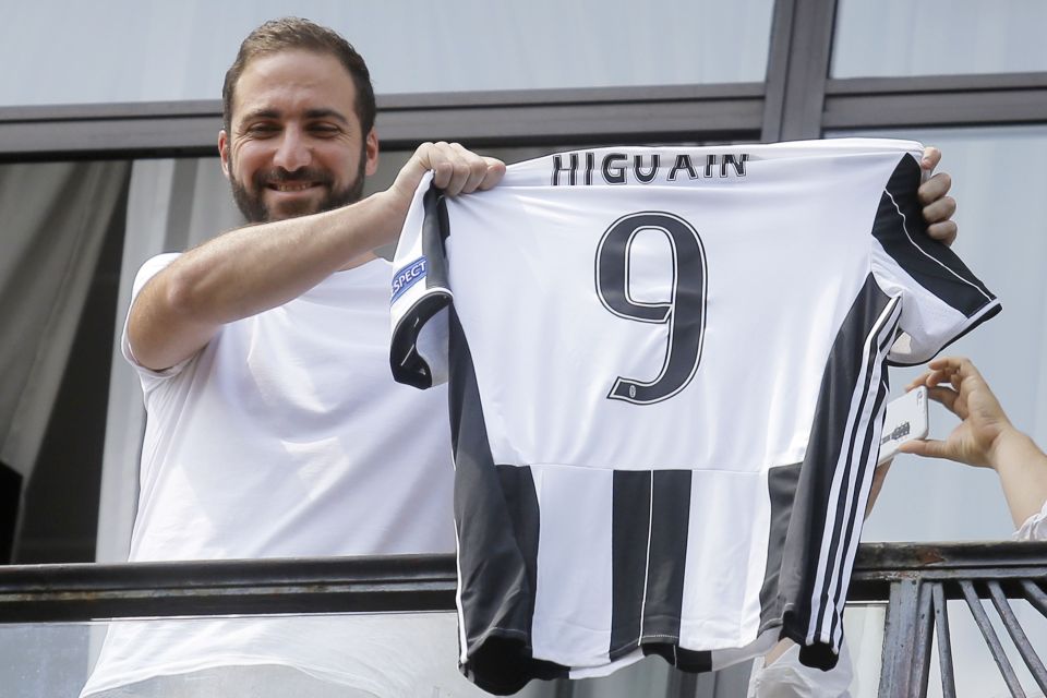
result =
M301 17L269 20L243 39L237 60L226 71L226 81L221 86L221 116L226 132L232 132L233 93L248 63L258 56L290 49L329 53L345 65L357 87L357 118L360 119L363 135L370 133L374 127L374 87L371 85L371 73L363 57L334 29Z

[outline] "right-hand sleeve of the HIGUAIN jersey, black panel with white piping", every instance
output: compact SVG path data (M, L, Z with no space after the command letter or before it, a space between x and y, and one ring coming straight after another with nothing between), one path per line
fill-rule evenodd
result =
M930 360L1000 311L1000 302L947 245L927 234L916 196L920 169L906 154L894 168L872 224L871 270L880 288L901 298L894 365Z

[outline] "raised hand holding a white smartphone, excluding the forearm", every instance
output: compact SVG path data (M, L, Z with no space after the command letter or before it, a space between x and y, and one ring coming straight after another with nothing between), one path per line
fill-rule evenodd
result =
M902 444L901 452L995 468L994 449L1000 437L1013 432L1014 428L985 378L970 359L944 357L928 365L930 371L908 384L906 389L926 385L930 399L944 405L963 421L944 441L911 441Z

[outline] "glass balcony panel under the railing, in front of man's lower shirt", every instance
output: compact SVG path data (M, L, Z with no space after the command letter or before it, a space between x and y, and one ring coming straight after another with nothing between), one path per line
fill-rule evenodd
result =
M453 613L0 624L9 698L480 698Z

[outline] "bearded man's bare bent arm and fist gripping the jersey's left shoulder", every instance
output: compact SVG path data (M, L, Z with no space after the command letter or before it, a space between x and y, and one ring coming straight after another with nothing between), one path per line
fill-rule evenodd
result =
M372 258L374 248L396 241L429 170L454 196L494 186L505 165L458 144L425 143L384 192L326 213L239 228L186 252L153 277L131 308L134 358L154 370L172 366L224 324L281 305Z

